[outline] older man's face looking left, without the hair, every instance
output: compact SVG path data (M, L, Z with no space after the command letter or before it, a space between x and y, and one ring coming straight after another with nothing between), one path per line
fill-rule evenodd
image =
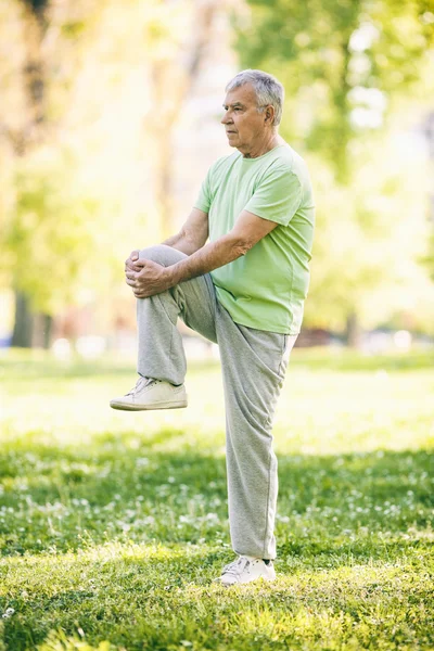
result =
M225 125L230 146L247 152L263 140L265 130L270 125L269 114L268 110L258 113L252 84L229 91L224 108L221 124Z

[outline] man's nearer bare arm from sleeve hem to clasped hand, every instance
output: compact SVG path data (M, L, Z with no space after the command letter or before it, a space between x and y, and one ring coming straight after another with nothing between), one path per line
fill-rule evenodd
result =
M162 267L151 260L138 260L135 264L136 270L127 273L127 284L132 288L137 298L154 296L184 280L232 263L245 255L277 226L276 221L243 210L229 233L202 246L171 267Z

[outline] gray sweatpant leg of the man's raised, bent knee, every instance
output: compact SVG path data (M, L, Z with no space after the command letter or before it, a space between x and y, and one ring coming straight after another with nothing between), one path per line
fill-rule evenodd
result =
M139 257L169 267L187 256L159 244L143 248ZM216 343L216 303L209 275L187 280L155 296L138 298L139 374L182 384L187 362L182 337L176 327L178 316L187 326Z

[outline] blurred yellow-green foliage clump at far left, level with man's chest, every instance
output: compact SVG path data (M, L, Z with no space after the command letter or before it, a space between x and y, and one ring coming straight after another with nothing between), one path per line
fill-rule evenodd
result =
M15 169L15 209L5 229L13 285L35 309L54 315L76 299L98 205L80 194L74 159L59 149L40 149Z

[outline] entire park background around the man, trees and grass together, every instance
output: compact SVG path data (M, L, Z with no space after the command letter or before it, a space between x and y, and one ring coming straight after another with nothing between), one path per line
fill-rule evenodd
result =
M189 408L135 382L132 248L230 153L225 85L266 69L317 203L275 427L278 583L232 559L218 353ZM429 650L432 0L0 0L0 650Z

